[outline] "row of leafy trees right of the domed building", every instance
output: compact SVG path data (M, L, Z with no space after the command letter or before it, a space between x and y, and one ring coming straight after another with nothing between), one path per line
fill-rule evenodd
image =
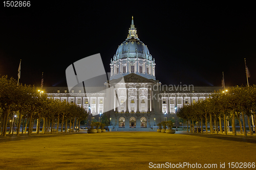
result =
M242 134L244 131L244 136L247 136L245 115L247 115L250 135L253 135L250 122L251 115L254 115L254 123L256 121L255 111L256 86L237 86L225 91L215 91L205 100L199 100L194 104L185 105L178 109L177 116L187 121L187 129L188 122L190 123L190 132L195 132L195 128L191 128L194 127L195 122L197 122L197 132L200 128L200 125L198 125L199 122L201 122L201 129L203 129L203 121L205 121L206 127L209 122L211 134L214 132L218 133L218 127L220 127L220 132L222 133L222 122L224 122L224 132L227 134L227 121L230 119L232 133L233 135L237 135L235 122L239 120L240 132ZM207 130L206 133L208 133Z

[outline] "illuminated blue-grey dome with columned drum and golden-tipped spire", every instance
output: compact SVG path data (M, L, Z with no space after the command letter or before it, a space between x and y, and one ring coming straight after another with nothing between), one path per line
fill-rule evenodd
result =
M113 60L111 59L110 80L118 79L131 73L156 80L155 65L155 59L150 55L147 46L138 38L132 17L132 25L128 36L118 46Z

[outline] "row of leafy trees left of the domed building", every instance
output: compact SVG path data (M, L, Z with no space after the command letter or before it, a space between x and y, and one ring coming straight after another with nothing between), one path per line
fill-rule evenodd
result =
M34 86L22 85L17 86L17 82L7 76L0 78L0 133L6 136L7 125L14 114L17 116L17 135L22 125L22 133L24 132L25 122L26 128L28 127L28 134L30 135L33 130L34 121L37 120L37 134L40 130L40 120L43 119L42 126L43 133L53 133L54 125L57 124L57 132L61 123L61 132L63 132L63 124L65 123L65 132L67 132L68 121L70 126L76 120L76 127L80 121L87 119L88 113L83 108L74 103L61 102L48 98L47 94L40 93ZM10 120L10 121L9 121ZM13 128L13 123L10 124L9 133ZM71 128L69 129L71 132ZM77 128L76 128L77 131Z

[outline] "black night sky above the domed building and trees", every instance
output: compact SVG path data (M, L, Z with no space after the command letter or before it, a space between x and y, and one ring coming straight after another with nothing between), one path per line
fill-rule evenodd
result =
M139 39L155 58L162 84L247 84L244 58L256 84L256 10L249 3L182 1L31 2L0 7L0 75L40 86L66 86L66 68L101 54L105 70L134 16Z

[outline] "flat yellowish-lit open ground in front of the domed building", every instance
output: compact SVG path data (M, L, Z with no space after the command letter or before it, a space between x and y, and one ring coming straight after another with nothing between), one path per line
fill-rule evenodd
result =
M231 169L228 162L256 162L255 143L255 136L189 133L14 135L0 137L0 169L154 169L149 168L150 162L155 166L206 163ZM225 168L220 168L220 162L225 162Z

